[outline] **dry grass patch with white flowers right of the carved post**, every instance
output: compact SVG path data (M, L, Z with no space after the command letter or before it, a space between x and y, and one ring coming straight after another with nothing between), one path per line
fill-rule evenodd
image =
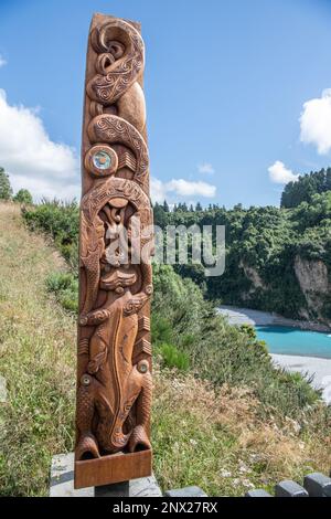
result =
M308 472L329 473L331 424L323 404L300 427L271 415L261 421L248 388L224 385L216 393L174 373L154 380L156 472L163 487L200 485L209 495L243 496L252 487L273 491L284 478L302 480Z

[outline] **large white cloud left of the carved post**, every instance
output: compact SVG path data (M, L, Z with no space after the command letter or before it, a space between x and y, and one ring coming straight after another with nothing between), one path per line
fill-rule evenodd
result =
M73 148L53 142L35 109L10 106L0 89L0 166L14 190L35 199L79 195L79 162Z

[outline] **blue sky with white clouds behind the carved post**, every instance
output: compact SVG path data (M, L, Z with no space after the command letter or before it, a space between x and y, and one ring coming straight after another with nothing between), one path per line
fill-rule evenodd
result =
M278 204L281 181L331 163L331 1L0 0L0 165L14 189L78 193L96 11L142 23L154 199Z

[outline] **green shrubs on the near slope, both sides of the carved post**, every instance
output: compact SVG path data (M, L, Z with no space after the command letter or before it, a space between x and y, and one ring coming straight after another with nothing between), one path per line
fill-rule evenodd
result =
M50 274L46 286L66 309L77 313L77 206L44 202L25 209L23 216L31 230L51 235L66 257L70 272ZM275 401L278 413L295 417L298 407L316 400L302 379L273 368L252 328L232 327L216 315L192 279L181 278L171 265L154 265L153 285L152 341L163 366L190 369L218 385L254 383L261 413Z

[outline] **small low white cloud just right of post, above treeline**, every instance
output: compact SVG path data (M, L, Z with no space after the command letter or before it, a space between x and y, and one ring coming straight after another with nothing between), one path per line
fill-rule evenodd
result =
M172 179L169 182L162 182L156 178L151 179L151 198L153 202L162 202L169 193L180 197L213 198L216 194L216 187L206 182L191 182L184 179Z

